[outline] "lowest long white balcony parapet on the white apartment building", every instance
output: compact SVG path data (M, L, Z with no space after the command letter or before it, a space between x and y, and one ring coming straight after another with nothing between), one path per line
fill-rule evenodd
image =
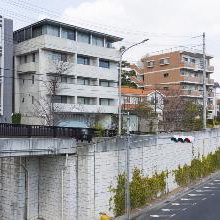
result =
M118 105L81 105L56 103L55 111L68 113L109 113L117 114Z

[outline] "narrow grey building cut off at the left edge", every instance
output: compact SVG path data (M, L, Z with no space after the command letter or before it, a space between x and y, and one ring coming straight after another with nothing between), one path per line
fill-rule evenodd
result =
M13 104L13 21L0 16L0 122L11 123Z

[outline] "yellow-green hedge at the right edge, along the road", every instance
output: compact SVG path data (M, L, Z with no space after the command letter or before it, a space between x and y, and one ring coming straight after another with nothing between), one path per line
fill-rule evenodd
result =
M207 157L195 158L190 165L179 166L174 170L175 181L179 186L186 186L198 178L207 176L208 174L220 169L220 148L214 153L210 153Z

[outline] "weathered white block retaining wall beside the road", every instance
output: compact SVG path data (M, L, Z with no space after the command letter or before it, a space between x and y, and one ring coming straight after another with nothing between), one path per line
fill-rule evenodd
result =
M198 154L214 152L220 145L220 129L190 135L196 138L193 144L171 142L168 135L132 136L130 174L134 167L148 176L156 171L172 171L179 165L190 164ZM65 153L1 158L0 219L24 220L27 204L30 220L60 220L62 210L64 220L98 220L99 212L113 216L109 211L112 196L109 187L116 186L117 176L125 170L125 165L125 138L78 143L77 151L68 158ZM166 189L171 191L176 187L170 174Z

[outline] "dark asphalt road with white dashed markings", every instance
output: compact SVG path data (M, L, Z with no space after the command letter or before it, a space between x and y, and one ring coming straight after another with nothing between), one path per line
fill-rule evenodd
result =
M220 175L135 220L220 220Z

